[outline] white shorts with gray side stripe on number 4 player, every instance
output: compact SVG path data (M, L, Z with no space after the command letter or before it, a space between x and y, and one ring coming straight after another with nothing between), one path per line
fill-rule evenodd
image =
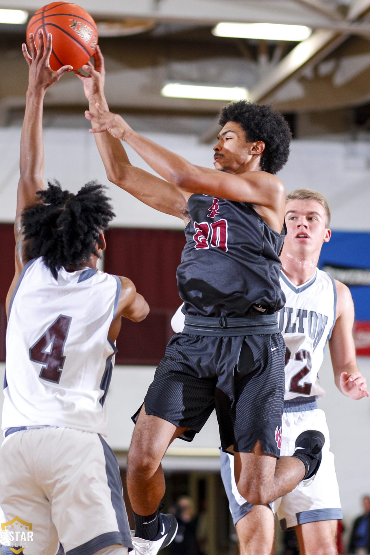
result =
M67 555L132 547L118 463L97 433L40 427L7 436L0 506L2 543L12 539L24 555L54 555L59 541Z

